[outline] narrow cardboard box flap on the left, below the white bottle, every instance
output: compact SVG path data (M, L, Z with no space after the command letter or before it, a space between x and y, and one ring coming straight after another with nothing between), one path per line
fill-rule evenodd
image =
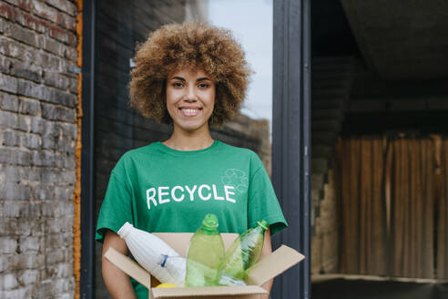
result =
M138 263L132 261L126 255L118 253L113 247L107 249L104 257L110 263L115 264L118 269L134 278L138 283L145 285L148 290L151 289L151 275Z

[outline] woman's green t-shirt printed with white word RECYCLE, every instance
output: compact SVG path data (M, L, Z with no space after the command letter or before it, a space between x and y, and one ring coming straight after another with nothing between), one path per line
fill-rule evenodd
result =
M218 140L191 151L155 142L118 160L99 211L96 240L103 242L106 229L117 232L125 222L147 232L196 232L207 213L218 216L219 232L242 233L261 219L270 223L271 234L287 226L253 151ZM139 298L140 288L145 289L137 287Z

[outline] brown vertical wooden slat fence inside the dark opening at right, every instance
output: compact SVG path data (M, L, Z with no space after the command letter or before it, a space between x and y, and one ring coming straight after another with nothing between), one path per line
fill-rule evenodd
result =
M336 152L341 273L448 279L448 139L352 137Z

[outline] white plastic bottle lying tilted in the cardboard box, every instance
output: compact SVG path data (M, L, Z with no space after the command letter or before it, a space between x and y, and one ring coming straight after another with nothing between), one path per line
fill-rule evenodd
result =
M136 229L126 222L117 232L127 248L143 268L160 283L183 286L186 260L158 236Z

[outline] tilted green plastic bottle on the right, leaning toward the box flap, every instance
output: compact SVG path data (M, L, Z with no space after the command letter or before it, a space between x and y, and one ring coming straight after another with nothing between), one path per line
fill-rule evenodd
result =
M264 232L269 224L264 220L241 234L226 252L219 273L220 285L246 285L244 279L249 268L257 263L263 249Z

